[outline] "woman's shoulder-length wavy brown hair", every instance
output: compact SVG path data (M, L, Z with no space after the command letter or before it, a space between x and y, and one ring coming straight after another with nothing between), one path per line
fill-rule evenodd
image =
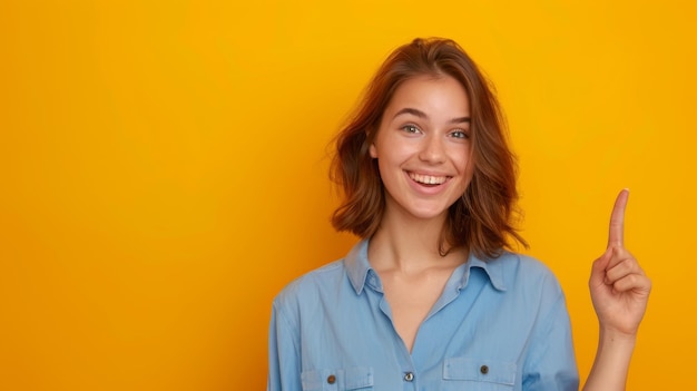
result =
M451 76L470 100L472 179L448 211L439 251L464 246L479 257L498 257L510 238L527 246L512 224L517 164L508 146L505 121L488 80L462 48L450 39L414 39L394 50L367 86L348 124L336 136L332 179L344 199L332 215L337 231L367 238L379 228L385 196L376 160L369 154L382 115L395 90L418 76Z

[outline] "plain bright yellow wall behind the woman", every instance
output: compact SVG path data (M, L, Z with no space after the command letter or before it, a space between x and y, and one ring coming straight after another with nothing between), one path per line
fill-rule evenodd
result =
M332 4L330 4L332 3ZM629 389L697 341L689 1L0 3L0 389L255 390L273 296L337 258L326 146L384 57L458 40L498 87L529 253L586 282L612 201L654 280Z

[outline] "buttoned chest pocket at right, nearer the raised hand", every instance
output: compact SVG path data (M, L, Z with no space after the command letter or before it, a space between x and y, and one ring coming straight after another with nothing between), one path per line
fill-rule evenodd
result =
M510 391L516 384L514 362L445 359L443 390Z

